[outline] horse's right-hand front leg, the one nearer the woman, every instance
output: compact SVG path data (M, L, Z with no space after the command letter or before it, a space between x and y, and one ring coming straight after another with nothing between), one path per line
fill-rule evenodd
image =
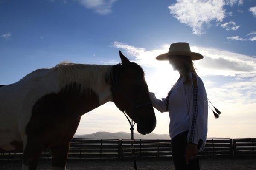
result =
M62 142L51 148L52 170L65 170L67 164L67 154L70 148L70 142Z

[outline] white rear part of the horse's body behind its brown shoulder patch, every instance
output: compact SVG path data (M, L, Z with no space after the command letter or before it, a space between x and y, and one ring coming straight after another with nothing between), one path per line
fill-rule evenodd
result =
M25 128L33 105L41 96L58 91L57 82L53 81L55 73L48 73L48 69L36 70L19 82L0 87L0 148L3 150L15 150L17 146L13 142L26 141Z

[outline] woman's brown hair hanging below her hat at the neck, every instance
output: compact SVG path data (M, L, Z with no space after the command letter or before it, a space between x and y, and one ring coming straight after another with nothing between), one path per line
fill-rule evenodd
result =
M189 77L189 73L193 72L196 74L196 71L195 71L196 68L192 61L192 58L190 56L182 56L179 58L183 62L183 66L184 66L183 76L185 77L185 81L183 83L185 84L188 82L192 82L192 79L190 79L190 77Z

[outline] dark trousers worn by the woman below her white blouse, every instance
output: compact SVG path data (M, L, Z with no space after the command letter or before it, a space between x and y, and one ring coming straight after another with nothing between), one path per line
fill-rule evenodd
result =
M187 145L187 136L189 131L177 134L172 138L172 159L176 170L200 170L198 157L186 164L185 152ZM198 142L198 150L203 140Z

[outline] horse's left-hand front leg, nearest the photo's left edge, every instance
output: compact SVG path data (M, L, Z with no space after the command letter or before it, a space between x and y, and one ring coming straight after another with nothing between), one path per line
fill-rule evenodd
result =
M28 138L24 145L22 170L36 170L38 159L44 148L42 140L36 137Z

